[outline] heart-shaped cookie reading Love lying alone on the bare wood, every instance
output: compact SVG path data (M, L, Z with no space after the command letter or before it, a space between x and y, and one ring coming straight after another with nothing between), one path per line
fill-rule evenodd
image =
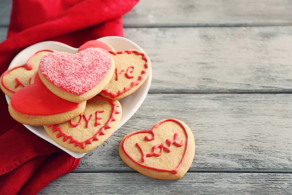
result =
M185 123L168 118L150 130L124 137L119 153L129 167L145 176L180 179L193 162L195 139Z

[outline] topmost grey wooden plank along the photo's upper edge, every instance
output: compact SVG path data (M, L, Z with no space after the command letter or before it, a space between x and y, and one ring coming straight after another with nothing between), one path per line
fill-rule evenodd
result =
M9 24L12 0L0 0L0 25ZM126 27L257 26L292 23L290 0L140 0Z

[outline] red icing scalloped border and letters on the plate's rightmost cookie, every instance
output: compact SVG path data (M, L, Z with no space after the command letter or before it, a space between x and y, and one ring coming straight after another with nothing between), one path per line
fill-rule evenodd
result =
M129 90L131 90L133 87L139 85L139 83L143 80L144 76L146 75L146 72L148 71L148 59L146 58L146 55L144 53L142 53L140 51L136 51L136 50L135 51L126 50L126 51L120 51L120 52L117 52L117 53L114 53L112 51L109 51L109 52L110 52L110 54L115 55L115 56L118 55L118 54L123 54L123 53L128 53L128 54L134 53L134 54L136 54L138 56L142 56L142 59L145 61L145 64L144 64L145 69L143 71L141 71L141 75L139 76L139 79L137 81L135 81L135 82L132 82L131 86L124 87L124 90L123 91L119 90L118 93L110 92L110 89L104 89L104 90L101 91L101 93L103 93L106 96L110 96L110 98L117 98L117 97L121 96L122 94L124 94L124 93L128 92ZM127 71L127 73L129 74L131 72ZM116 72L116 75L117 75L117 72ZM131 76L128 76L128 77L131 78Z

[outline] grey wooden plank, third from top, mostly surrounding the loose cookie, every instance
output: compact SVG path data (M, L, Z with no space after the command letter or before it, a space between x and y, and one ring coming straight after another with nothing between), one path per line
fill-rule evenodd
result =
M82 157L75 172L133 171L118 153L122 137L170 117L193 131L196 155L190 172L292 173L288 94L148 94L122 128Z

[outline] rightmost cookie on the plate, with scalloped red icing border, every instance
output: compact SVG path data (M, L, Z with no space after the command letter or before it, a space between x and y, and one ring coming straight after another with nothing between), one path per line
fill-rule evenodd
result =
M115 73L100 95L110 99L125 98L144 83L151 69L151 61L138 50L110 54L115 62Z

